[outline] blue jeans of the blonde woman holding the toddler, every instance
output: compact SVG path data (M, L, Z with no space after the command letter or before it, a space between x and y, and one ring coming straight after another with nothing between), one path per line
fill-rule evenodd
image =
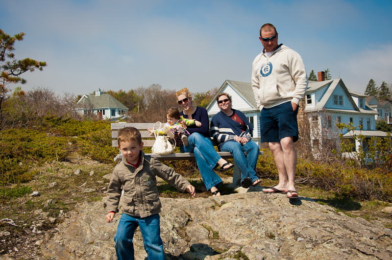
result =
M181 146L182 153L195 153L197 167L199 168L201 178L203 179L207 190L212 187L221 186L222 180L212 168L217 165L221 156L215 151L210 138L204 137L199 133L192 133L188 137L189 145Z

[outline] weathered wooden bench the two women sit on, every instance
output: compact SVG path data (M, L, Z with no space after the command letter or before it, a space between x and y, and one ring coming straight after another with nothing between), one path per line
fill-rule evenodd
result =
M154 123L124 123L124 122L119 122L119 123L112 123L111 124L111 129L112 129L112 146L117 147L117 131L123 127L135 127L138 129L142 135L142 140L144 143L144 147L152 147L155 142L154 136L150 136L150 132L147 131L147 128L152 128L154 126ZM151 139L152 138L152 139ZM150 140L148 140L150 139ZM217 143L215 140L212 140L214 145L216 146ZM229 152L218 152L218 154L223 158L223 159L233 159L233 156ZM259 155L263 155L264 152L260 151ZM195 154L194 153L171 153L167 155L160 155L160 154L155 154L155 153L148 153L147 155L152 156L154 158L157 158L159 161L183 161L183 160L188 160L188 161L195 161ZM123 160L123 155L120 153L118 154L115 158L115 162L120 162ZM234 168L233 168L233 183L230 185L230 187L236 189L237 187L241 186L241 170L238 167L238 165L233 163Z

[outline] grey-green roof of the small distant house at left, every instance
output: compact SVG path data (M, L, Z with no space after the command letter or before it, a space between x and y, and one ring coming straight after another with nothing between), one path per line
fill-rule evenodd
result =
M94 107L94 109L104 109L104 108L120 108L124 110L129 110L124 106L119 100L114 98L110 94L96 95L83 95L82 98L76 103L76 108L82 107Z

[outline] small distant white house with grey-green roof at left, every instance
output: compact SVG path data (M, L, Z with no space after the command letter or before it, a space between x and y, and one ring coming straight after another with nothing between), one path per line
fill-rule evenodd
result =
M116 119L123 117L128 108L110 94L103 94L100 89L95 95L83 95L77 101L75 110L81 115L92 113L99 119Z

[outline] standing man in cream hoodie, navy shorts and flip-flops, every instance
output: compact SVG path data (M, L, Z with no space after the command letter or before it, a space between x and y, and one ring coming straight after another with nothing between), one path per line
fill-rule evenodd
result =
M301 56L278 45L275 26L264 24L259 39L264 49L253 61L252 89L261 110L261 142L269 142L279 175L279 184L263 192L287 192L288 198L298 198L294 142L298 140L298 103L308 77Z

